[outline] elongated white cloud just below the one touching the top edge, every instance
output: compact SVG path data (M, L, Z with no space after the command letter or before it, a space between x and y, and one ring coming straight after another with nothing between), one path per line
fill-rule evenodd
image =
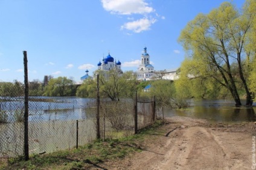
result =
M139 19L135 20L133 22L127 22L124 23L124 25L121 26L121 29L128 29L133 32L139 33L141 31L146 31L150 29L150 26L156 22L156 19Z

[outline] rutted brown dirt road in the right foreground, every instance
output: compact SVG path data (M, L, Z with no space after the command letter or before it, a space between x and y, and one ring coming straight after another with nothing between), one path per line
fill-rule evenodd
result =
M106 163L106 169L252 169L254 123L172 117L161 128L165 135L149 135L144 151Z

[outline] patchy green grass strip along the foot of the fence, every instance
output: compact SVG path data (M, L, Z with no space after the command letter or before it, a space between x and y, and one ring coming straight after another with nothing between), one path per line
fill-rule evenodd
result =
M24 161L22 157L8 159L1 163L0 169L89 169L100 168L100 163L123 159L127 155L142 151L142 142L147 135L162 133L157 127L164 121L157 120L152 126L139 131L137 135L130 135L119 139L98 139L91 144L71 150L57 151L44 155L30 156Z

